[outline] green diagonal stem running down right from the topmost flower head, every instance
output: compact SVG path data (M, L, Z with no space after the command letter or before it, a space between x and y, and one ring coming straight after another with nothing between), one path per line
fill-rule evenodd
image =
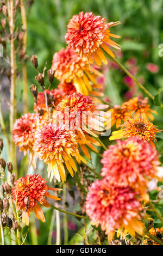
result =
M145 92L148 97L150 97L152 100L154 100L154 96L148 92L148 90L139 82L137 79L114 57L109 57Z

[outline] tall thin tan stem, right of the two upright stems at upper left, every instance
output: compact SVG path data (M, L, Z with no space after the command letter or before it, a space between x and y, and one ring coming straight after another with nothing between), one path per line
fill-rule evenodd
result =
M27 17L26 9L24 7L23 0L20 1L21 16L22 16L22 28L24 31L23 36L23 49L27 51ZM27 65L26 60L23 59L23 100L24 100L24 113L28 113L28 84L27 84Z

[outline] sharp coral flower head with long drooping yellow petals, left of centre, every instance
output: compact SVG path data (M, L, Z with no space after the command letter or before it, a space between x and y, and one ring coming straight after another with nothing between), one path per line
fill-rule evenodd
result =
M66 125L58 125L49 123L42 126L40 131L37 131L35 136L34 150L36 155L48 164L48 178L51 175L60 181L66 180L64 163L73 176L77 172L76 163L73 157L76 157L79 162L82 160L86 163L78 151L78 136L73 130L70 130ZM72 170L73 169L73 170Z

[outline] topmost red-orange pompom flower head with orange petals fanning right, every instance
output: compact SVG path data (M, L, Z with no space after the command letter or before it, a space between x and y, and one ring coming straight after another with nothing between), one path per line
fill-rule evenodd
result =
M90 63L93 56L97 65L101 65L101 62L107 64L102 50L115 57L108 46L121 49L120 45L110 39L121 36L111 34L108 29L118 24L119 21L106 23L105 18L92 13L84 14L82 11L69 21L65 35L66 43L78 56L89 58Z

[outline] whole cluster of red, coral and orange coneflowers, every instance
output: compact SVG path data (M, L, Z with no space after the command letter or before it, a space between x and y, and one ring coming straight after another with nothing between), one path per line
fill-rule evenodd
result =
M113 132L110 140L128 139L110 145L104 152L101 160L104 178L93 182L86 197L86 214L92 224L101 224L109 240L116 229L127 229L131 236L135 231L143 234L140 222L142 200L148 201L148 179L157 176L160 164L153 142L159 130L147 119L153 120L151 112L155 113L147 99L135 97L109 109L109 122L108 112L99 110L108 108L108 105L103 105L101 99L96 98L103 96L96 91L100 88L97 77L101 74L91 64L93 60L97 65L107 64L103 52L114 57L109 46L120 49L120 45L110 39L120 36L111 34L109 30L119 23L106 23L101 16L92 13L82 12L72 17L65 36L68 47L53 56L52 70L55 72L52 74L60 81L58 88L36 94L36 113L27 113L17 119L12 133L13 141L20 150L24 154L29 150L34 168L37 156L48 164L50 180L55 176L64 182L65 169L73 176L73 171L77 172L76 161L87 163L79 154L79 147L90 159L87 147L97 151L94 145L100 145L97 136L104 131L104 124L107 124L107 129L115 123L119 128L124 121L123 129ZM44 88L42 77L39 73L37 81L41 79ZM89 113L89 118L83 115L85 112ZM12 193L18 208L24 211L24 222L29 223L29 212L33 210L37 218L45 221L36 202L48 207L44 197L54 198L47 193L49 189L52 188L36 174L20 178L15 183ZM26 204L25 196L29 197Z

